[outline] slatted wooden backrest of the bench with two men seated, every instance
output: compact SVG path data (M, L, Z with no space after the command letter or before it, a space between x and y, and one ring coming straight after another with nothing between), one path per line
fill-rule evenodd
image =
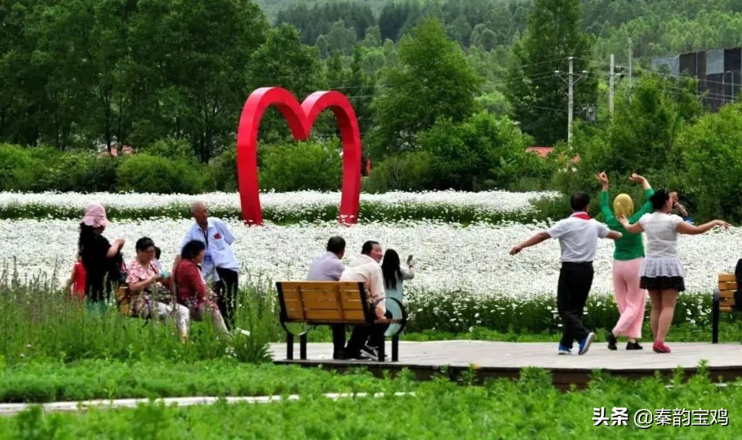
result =
M364 283L356 281L280 281L276 283L283 322L368 324Z

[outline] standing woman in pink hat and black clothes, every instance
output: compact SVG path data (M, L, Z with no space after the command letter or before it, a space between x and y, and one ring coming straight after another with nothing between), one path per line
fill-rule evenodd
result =
M124 239L116 238L114 244L101 234L108 225L105 217L105 208L99 203L93 203L85 209L85 216L80 223L80 237L78 241L79 253L82 257L82 266L87 272L85 282L85 296L90 304L108 300L111 293L111 280L106 275L111 269L112 262L121 252Z

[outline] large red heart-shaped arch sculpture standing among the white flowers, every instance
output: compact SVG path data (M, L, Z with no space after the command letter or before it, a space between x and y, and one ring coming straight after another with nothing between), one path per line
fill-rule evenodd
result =
M343 144L343 187L338 222L357 223L361 197L361 132L350 101L338 91L320 91L307 96L299 104L291 92L280 87L259 88L252 92L240 114L240 125L237 127L237 184L245 223L263 224L257 183L257 129L270 105L275 105L283 114L297 140L309 139L317 116L326 108L332 109L338 119Z

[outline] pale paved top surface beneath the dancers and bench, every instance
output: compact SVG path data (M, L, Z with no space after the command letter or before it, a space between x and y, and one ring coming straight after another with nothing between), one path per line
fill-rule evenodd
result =
M626 351L626 343L617 351L605 343L596 343L585 355L557 355L557 343L543 342L488 342L488 341L431 341L399 344L399 362L388 362L389 367L468 367L476 364L482 368L541 367L549 370L667 370L675 367L694 368L701 359L709 367L732 367L742 370L742 344L710 344L706 342L668 343L672 352L659 354L651 350L651 343L643 350ZM286 344L271 344L275 361L286 359ZM573 352L577 352L574 347ZM391 344L387 343L387 355ZM299 344L295 344L294 358L299 357ZM307 344L307 361L312 364L370 364L370 361L333 361L332 344Z

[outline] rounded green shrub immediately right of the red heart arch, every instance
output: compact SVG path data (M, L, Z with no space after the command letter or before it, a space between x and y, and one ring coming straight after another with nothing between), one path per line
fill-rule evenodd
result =
M433 185L433 154L407 151L374 165L364 189L369 192L423 191Z

